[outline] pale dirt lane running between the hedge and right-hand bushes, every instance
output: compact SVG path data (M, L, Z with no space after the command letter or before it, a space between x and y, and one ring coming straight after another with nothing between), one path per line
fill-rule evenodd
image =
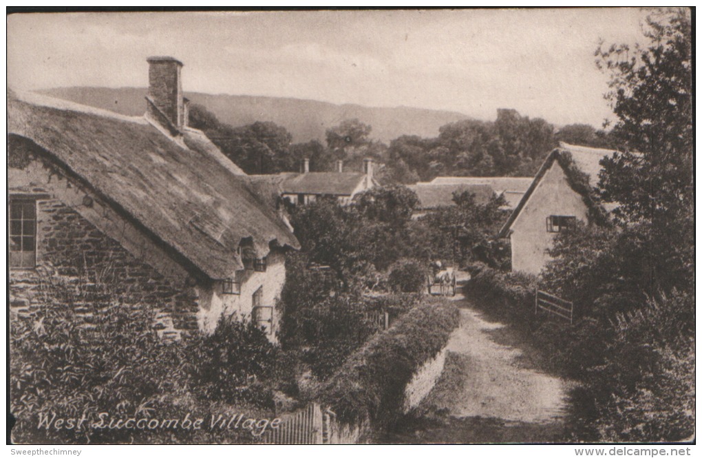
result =
M461 325L441 377L413 415L379 443L549 443L564 440L564 381L537 372L518 348L498 343L509 327L489 322L463 296Z

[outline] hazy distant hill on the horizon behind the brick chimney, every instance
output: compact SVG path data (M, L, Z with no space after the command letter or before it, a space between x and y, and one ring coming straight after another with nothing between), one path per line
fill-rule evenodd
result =
M145 111L146 88L72 87L41 91L50 96L128 115ZM204 105L221 122L243 126L256 121L272 121L284 126L293 141L324 140L324 132L344 119L358 118L373 126L371 137L390 142L403 134L434 137L439 127L467 119L465 114L411 107L364 107L335 105L316 100L227 94L185 93L192 103Z

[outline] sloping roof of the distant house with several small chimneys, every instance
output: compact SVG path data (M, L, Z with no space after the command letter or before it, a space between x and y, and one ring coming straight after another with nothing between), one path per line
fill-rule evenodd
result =
M362 185L366 174L355 172L307 172L281 174L280 190L286 194L346 195Z

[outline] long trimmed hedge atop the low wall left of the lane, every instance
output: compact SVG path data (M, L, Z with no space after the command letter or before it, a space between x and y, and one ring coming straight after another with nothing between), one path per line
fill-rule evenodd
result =
M323 386L317 400L344 424L382 426L399 415L414 372L446 346L458 327L453 303L428 299L376 334Z

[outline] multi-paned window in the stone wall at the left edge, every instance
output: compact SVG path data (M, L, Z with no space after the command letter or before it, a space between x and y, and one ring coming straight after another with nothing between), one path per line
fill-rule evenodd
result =
M37 262L37 202L10 201L10 266L34 268Z

